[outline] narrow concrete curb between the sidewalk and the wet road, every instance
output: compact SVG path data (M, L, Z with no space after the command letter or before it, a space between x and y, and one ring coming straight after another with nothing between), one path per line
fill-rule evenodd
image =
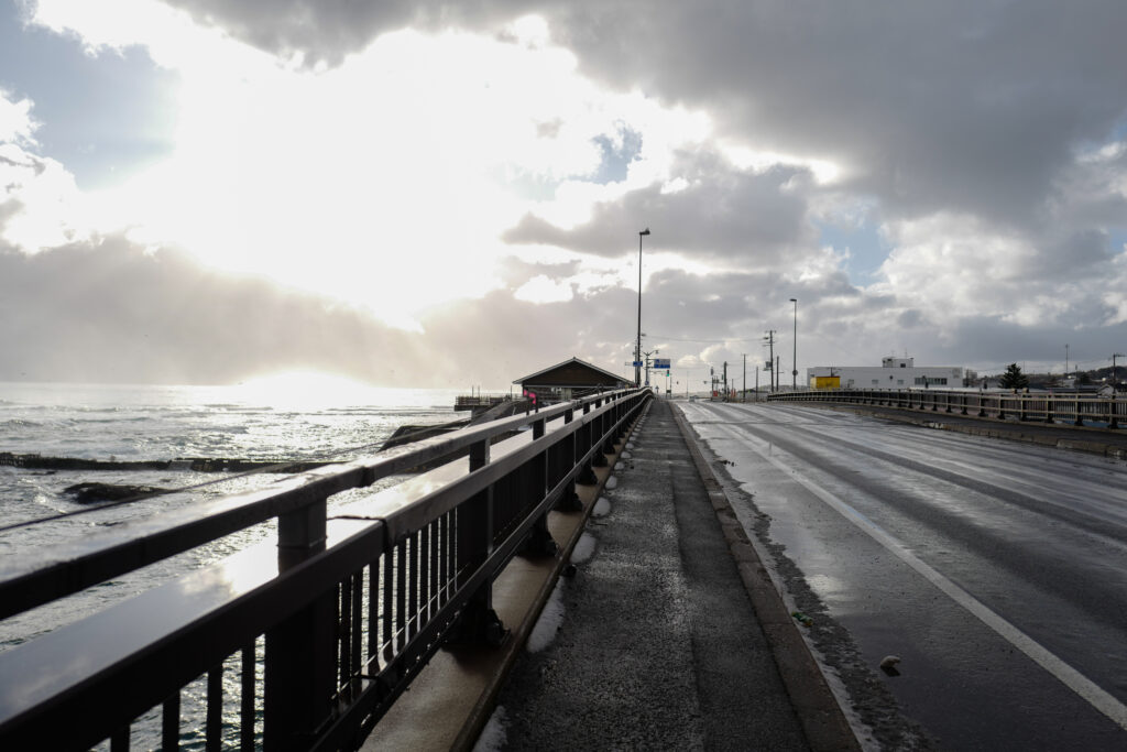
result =
M755 609L775 665L779 667L779 675L787 688L810 750L860 752L861 744L852 726L810 653L810 647L788 613L782 594L763 566L754 545L747 537L747 531L736 517L724 487L704 461L696 436L681 414L681 408L675 405L671 407L675 408L672 410L673 419L689 446L689 454L696 466L696 472L708 492L725 540L736 559L739 577Z

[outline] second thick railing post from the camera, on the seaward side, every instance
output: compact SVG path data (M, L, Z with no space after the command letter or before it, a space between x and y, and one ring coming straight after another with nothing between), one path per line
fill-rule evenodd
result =
M489 462L489 440L470 445L470 472ZM492 552L494 488L489 486L458 507L458 586L471 577ZM492 581L486 580L462 609L451 642L494 647L505 642L508 630L492 608Z

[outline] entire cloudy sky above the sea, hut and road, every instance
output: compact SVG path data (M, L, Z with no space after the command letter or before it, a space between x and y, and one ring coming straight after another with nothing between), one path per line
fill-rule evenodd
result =
M1125 28L1121 0L0 0L0 380L625 374L644 228L677 389L751 381L769 330L789 383L796 310L802 373L1110 365Z

